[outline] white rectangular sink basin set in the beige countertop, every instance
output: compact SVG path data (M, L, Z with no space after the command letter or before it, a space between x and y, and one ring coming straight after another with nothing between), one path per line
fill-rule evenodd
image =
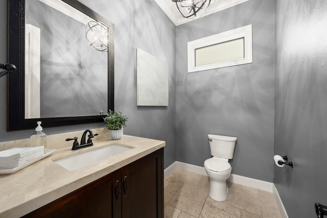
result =
M64 167L65 169L68 169L68 171L75 171L75 169L83 168L84 166L91 165L98 161L107 159L116 154L120 154L129 150L131 150L131 148L119 146L118 144L111 144L110 146L65 157L59 160L55 160L54 162Z

